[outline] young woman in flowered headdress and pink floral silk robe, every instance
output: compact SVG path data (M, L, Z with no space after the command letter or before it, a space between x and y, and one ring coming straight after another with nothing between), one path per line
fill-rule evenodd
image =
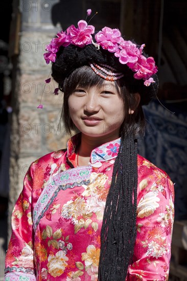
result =
M65 127L80 133L31 164L5 280L168 280L173 183L137 155L142 105L158 87L143 48L84 20L48 45Z

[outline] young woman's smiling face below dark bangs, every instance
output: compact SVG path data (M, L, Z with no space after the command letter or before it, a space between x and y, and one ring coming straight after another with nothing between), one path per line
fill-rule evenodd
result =
M125 112L114 82L89 88L78 86L68 98L68 107L73 123L84 135L109 140L119 137Z

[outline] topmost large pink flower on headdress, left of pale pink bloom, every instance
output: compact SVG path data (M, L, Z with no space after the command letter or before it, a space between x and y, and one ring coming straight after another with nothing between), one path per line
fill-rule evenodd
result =
M67 28L67 34L71 37L71 43L73 45L84 48L86 45L91 44L92 36L95 32L95 27L88 26L85 20L79 20L78 28L74 25Z

